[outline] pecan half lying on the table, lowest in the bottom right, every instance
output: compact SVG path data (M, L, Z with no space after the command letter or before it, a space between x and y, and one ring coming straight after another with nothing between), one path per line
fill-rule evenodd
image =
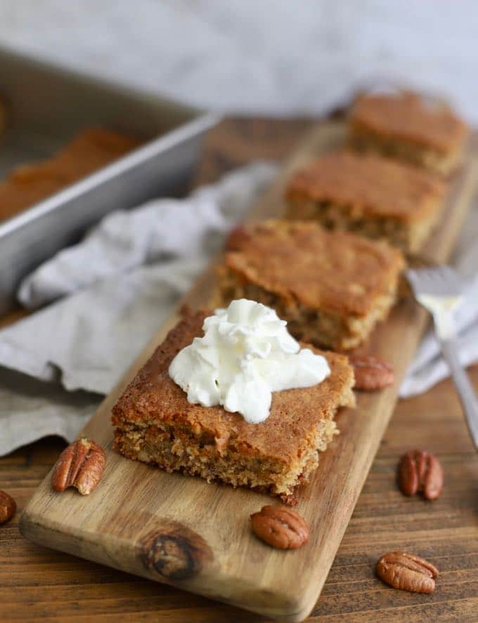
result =
M385 553L377 561L378 577L401 591L433 593L438 569L427 560L404 551Z

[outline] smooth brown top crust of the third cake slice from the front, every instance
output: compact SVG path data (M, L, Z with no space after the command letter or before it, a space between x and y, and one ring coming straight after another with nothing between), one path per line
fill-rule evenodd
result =
M292 177L289 200L352 206L354 213L419 221L437 208L445 185L431 173L392 159L340 151L326 154Z

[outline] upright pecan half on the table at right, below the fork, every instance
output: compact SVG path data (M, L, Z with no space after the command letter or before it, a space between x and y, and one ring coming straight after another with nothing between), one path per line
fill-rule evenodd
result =
M422 493L425 499L437 499L443 489L443 469L427 450L411 450L399 462L399 485L404 495Z

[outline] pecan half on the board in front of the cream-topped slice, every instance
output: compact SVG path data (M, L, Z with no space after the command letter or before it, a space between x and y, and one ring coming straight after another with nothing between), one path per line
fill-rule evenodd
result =
M262 506L251 515L254 535L278 549L298 549L309 540L305 520L283 506Z

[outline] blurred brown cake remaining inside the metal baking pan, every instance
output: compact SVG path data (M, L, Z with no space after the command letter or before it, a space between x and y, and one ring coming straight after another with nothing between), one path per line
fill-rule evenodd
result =
M101 169L138 145L140 142L131 136L90 128L51 159L18 166L0 181L0 221Z

